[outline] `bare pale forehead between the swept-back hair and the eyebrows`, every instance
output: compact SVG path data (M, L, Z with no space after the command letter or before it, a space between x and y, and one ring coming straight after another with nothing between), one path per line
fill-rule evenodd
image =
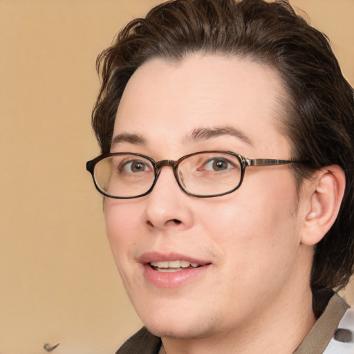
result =
M186 140L204 127L232 127L259 145L284 144L277 127L285 95L276 71L249 59L191 55L180 62L150 59L122 95L113 136L149 142Z

